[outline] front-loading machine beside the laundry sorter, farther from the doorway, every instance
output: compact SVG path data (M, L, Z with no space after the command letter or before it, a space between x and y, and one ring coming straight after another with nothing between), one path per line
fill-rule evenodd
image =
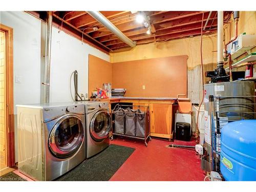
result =
M90 158L110 145L111 115L108 102L84 103L86 113L86 153Z

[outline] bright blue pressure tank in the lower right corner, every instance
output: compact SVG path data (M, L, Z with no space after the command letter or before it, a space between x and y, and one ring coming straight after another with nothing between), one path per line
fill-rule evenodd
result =
M256 181L256 119L223 126L221 173L226 181Z

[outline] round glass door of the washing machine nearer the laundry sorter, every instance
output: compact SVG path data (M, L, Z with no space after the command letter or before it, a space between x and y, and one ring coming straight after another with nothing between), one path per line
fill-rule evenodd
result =
M102 141L109 136L111 130L111 118L108 112L98 111L92 118L90 134L95 141Z

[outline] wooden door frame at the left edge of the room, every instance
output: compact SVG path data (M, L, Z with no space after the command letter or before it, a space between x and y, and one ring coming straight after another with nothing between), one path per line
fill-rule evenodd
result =
M6 127L7 166L15 165L14 102L13 102L13 29L0 23L0 30L6 33Z

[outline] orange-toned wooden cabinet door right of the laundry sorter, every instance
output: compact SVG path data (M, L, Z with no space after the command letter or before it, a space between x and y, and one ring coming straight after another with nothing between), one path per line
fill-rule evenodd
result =
M172 104L150 104L151 133L164 135L171 134L171 109Z

